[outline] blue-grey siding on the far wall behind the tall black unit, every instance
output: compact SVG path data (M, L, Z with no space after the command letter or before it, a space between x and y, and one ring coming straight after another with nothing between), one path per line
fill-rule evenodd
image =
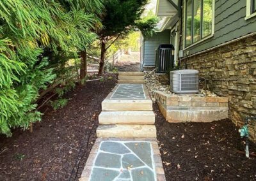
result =
M157 32L151 38L144 39L143 66L155 66L156 48L161 44L170 44L170 30Z

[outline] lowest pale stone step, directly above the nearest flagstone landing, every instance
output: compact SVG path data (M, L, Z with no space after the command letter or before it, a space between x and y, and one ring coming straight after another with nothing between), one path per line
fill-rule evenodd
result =
M99 125L98 138L156 138L154 125Z

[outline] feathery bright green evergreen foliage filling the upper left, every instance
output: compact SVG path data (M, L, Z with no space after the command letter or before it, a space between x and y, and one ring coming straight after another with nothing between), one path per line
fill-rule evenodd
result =
M40 92L72 80L76 62L70 69L69 58L97 38L102 8L102 0L1 0L0 133L40 120Z

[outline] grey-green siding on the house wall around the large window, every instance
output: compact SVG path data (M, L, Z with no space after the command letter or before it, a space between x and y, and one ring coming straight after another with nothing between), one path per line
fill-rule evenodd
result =
M185 4L183 4L184 6ZM201 41L191 47L184 48L184 55L189 51L189 55L201 52L208 48L215 47L222 43L235 40L246 34L256 32L256 17L245 20L246 1L245 0L215 0L214 15L214 35L211 38ZM184 9L182 13L184 20ZM184 24L182 23L182 26ZM182 31L184 27L182 27ZM182 39L184 32L182 32ZM182 41L182 44L184 41ZM181 45L181 49L183 45Z

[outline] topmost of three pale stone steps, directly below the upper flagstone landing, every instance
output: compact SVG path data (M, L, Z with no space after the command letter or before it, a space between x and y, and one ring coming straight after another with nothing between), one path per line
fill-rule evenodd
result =
M114 100L105 99L102 111L152 111L151 99L145 100Z

